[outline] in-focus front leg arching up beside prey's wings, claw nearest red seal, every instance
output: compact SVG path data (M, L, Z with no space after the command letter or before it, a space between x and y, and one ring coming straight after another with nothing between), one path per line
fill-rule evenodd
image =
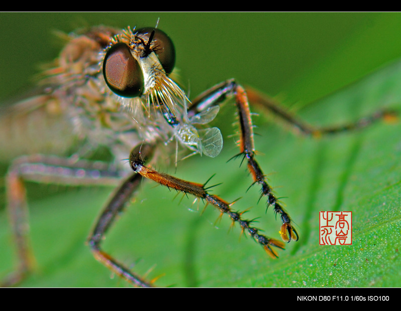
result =
M278 202L273 194L272 188L268 185L265 175L255 160L255 147L253 138L253 125L249 109L248 97L244 88L234 79L217 84L213 88L200 94L188 108L188 115L198 113L207 107L221 104L228 97L235 96L236 106L240 123L240 153L248 161L248 169L253 177L254 183L261 186L261 198L267 198L267 206L273 206L274 211L280 214L282 220L281 237L284 241L298 240L298 233L291 224L291 218ZM236 157L237 157L236 156Z

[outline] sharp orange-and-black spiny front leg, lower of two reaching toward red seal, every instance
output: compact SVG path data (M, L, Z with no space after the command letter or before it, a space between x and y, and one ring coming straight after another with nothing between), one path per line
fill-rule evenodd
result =
M142 145L142 150L151 148L149 145ZM212 204L218 210L220 210L221 214L227 214L232 219L233 223L238 222L242 228L242 231L248 231L249 235L257 241L265 251L272 257L278 257L277 252L272 248L272 246L278 247L280 249L284 249L284 243L275 239L271 239L266 237L263 234L259 233L259 229L252 227L252 221L246 220L242 218L241 212L235 212L231 209L230 203L224 201L218 196L211 195L205 190L205 184L197 184L188 181L184 181L182 179L178 179L168 174L160 173L152 168L144 166L144 159L139 148L134 148L131 152L130 156L130 164L131 168L134 172L138 173L138 176L142 176L147 179L151 179L160 185L166 186L169 189L175 189L177 191L181 191L185 194L191 194L195 197L198 197L207 202L207 204Z

